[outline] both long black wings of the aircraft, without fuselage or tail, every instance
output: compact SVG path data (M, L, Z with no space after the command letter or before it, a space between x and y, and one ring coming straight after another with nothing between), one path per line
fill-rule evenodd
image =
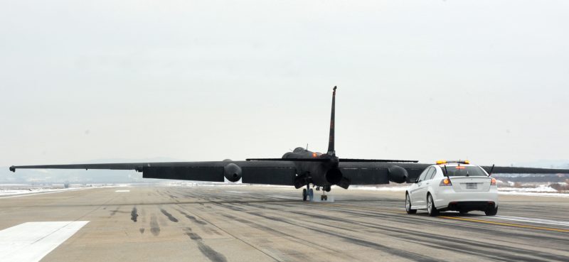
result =
M234 164L234 165L230 165ZM339 169L347 184L376 185L393 182L413 182L432 164L382 161L341 161ZM196 180L223 182L224 178L244 183L268 185L294 185L297 169L293 160L281 158L246 161L160 162L160 163L102 163L75 165L20 165L16 169L109 169L137 170L143 178ZM482 166L489 172L491 166ZM514 174L569 174L569 169L494 167L492 173Z

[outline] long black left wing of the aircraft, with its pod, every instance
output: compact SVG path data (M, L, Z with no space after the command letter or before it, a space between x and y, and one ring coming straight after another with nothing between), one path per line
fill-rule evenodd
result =
M230 165L230 164L235 165ZM236 168L236 167L237 168ZM206 161L206 162L160 162L160 163L104 163L74 165L19 165L18 169L107 169L137 170L142 178L196 180L223 182L242 178L243 183L267 185L294 185L296 167L292 161ZM234 176L235 175L235 176Z

